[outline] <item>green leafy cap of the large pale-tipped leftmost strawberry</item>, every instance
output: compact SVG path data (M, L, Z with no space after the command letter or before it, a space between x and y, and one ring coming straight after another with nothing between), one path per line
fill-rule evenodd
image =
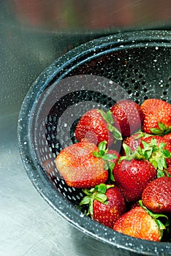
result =
M104 140L99 143L98 146L99 151L94 151L94 157L102 158L105 162L104 169L108 170L109 173L109 180L114 181L114 176L113 176L113 168L115 166L114 162L111 160L116 159L117 156L115 154L107 154L108 148L107 148L107 141Z

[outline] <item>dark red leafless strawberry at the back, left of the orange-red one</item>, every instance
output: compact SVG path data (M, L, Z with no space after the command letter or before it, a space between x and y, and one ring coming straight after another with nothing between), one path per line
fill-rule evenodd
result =
M115 127L121 129L123 137L132 135L140 129L143 120L142 110L132 100L120 100L110 109Z

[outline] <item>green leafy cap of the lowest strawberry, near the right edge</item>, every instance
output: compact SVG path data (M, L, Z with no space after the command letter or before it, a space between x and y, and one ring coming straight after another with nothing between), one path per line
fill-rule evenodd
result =
M153 211L150 211L147 207L145 207L142 203L142 200L138 201L140 206L155 220L156 224L159 227L161 237L163 236L163 231L170 227L170 219L165 214L155 214ZM163 224L159 218L166 219L166 223Z

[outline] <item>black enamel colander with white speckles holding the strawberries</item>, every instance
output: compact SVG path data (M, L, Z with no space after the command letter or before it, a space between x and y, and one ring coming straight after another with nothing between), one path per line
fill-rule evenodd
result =
M34 186L75 227L115 247L115 255L119 250L171 255L171 243L125 236L86 217L77 208L83 192L65 184L54 159L75 142L75 125L86 110L107 110L123 98L170 102L170 91L171 32L132 31L95 39L56 60L37 78L20 110L20 154Z

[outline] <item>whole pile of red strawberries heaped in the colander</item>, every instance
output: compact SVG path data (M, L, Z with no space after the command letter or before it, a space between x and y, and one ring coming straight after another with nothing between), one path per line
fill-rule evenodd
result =
M56 167L68 186L83 189L85 214L128 236L170 241L170 103L121 100L107 112L88 110L75 138Z

